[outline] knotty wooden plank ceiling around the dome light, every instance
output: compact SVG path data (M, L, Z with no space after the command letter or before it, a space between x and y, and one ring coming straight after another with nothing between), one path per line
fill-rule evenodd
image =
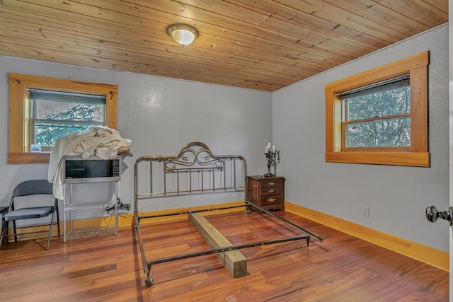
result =
M448 0L0 0L0 54L275 91L447 13ZM200 35L181 47L173 23Z

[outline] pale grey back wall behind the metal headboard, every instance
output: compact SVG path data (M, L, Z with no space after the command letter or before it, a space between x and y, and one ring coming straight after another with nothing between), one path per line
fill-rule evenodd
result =
M202 141L215 154L241 154L250 173L265 172L260 156L272 137L272 93L165 79L156 76L88 69L0 56L0 204L8 204L13 187L23 180L47 178L47 164L8 165L8 73L79 79L119 86L118 130L132 139L134 156L124 159L119 196L133 202L134 163L139 156L173 155L190 141ZM258 154L258 156L256 156ZM96 194L99 185L84 192ZM235 197L236 198L236 197ZM210 194L201 203L237 199ZM96 197L96 200L99 200ZM102 199L101 199L102 200ZM149 204L143 210L185 207L200 199ZM202 205L200 204L200 205ZM96 216L93 213L93 216ZM89 216L89 215L88 215Z

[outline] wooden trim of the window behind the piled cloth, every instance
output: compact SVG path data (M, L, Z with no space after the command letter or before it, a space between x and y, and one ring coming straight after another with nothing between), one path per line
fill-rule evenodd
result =
M30 152L30 100L28 88L42 88L77 93L96 93L106 96L106 126L117 127L118 87L102 83L89 83L44 76L8 74L9 82L9 129L8 163L49 163L50 153Z

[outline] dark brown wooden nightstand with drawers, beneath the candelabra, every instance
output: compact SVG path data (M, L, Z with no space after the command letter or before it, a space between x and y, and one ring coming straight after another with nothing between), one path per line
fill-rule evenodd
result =
M285 211L285 178L263 175L247 176L248 201L267 210ZM260 211L257 211L261 214Z

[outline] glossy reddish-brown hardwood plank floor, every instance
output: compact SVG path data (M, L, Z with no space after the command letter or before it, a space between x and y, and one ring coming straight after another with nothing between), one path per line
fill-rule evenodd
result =
M241 250L248 275L233 279L216 255L154 265L144 286L132 227L117 236L45 238L0 247L1 301L448 301L449 274L290 213L323 238ZM243 211L207 216L231 243L292 236ZM147 259L207 249L188 221L143 226Z

